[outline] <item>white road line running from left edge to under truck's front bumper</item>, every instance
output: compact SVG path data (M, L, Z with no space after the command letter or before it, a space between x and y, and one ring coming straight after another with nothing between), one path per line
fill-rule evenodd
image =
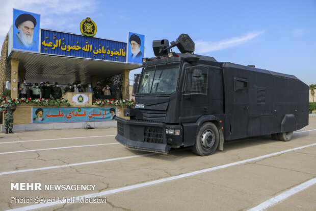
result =
M87 165L87 164L93 164L98 162L109 162L114 160L122 160L122 159L129 159L129 158L135 158L135 157L143 157L147 155L153 155L155 153L147 153L142 155L133 155L128 157L117 157L117 158L111 158L106 160L95 160L95 161L89 161L89 162L79 162L79 163L72 163L68 165L61 165L61 166L53 166L53 167L43 167L43 168L37 168L37 169L24 169L24 170L17 170L17 171L11 171L11 172L0 172L0 175L5 174L15 174L15 173L21 173L21 172L33 172L33 171L40 171L40 170L47 170L47 169L58 169L58 168L64 168L64 167L73 167L73 166L80 166L80 165Z

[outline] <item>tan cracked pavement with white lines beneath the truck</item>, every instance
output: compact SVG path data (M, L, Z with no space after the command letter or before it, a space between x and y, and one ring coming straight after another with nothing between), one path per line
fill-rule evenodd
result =
M0 209L316 210L316 118L290 142L248 138L205 157L190 149L133 151L115 135L116 129L0 134Z

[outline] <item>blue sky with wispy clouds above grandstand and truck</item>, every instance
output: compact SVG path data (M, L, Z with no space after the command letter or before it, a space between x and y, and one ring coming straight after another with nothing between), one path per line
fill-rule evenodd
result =
M42 29L76 34L90 17L95 37L126 42L128 31L145 35L144 57L154 57L152 40L171 42L185 33L195 42L195 54L316 84L316 0L0 0L0 5L0 46L13 24L13 8L40 14ZM130 80L140 72L131 71Z

